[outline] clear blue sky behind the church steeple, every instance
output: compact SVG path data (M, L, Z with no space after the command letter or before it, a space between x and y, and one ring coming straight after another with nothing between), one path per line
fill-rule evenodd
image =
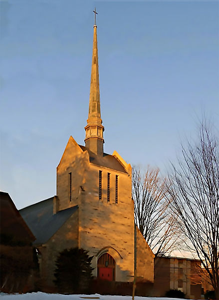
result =
M205 114L219 124L218 1L0 0L0 189L17 208L56 193L84 144L96 6L105 152L163 175Z

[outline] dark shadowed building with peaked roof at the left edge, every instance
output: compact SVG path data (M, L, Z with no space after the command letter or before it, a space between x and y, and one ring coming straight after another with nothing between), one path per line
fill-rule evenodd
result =
M26 292L34 289L37 269L32 242L35 236L11 197L0 191L0 289Z

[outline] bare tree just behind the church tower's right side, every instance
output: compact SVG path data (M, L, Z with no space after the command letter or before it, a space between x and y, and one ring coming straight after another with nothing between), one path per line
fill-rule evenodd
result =
M135 222L154 251L155 256L170 253L176 238L175 221L166 197L165 180L159 169L149 167L144 175L140 168L132 169L132 197L135 203Z

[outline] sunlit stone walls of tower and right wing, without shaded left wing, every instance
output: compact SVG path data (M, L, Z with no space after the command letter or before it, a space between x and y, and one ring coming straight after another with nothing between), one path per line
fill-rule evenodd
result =
M116 261L115 280L132 281L134 275L134 203L132 200L131 166L117 152L114 157L124 171L95 165L89 161L73 137L57 167L57 197L59 209L78 205L78 246L94 255L93 274L97 276L97 260L105 252ZM102 171L102 199L99 199L99 171ZM72 173L72 193L69 195L69 173ZM107 199L110 173L110 199ZM116 203L116 176L118 202ZM138 275L153 281L153 253L141 233L137 233ZM142 249L140 250L140 248ZM147 264L147 267L145 267Z

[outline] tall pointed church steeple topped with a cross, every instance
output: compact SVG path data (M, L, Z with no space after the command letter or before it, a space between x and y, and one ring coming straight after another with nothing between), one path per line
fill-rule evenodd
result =
M96 9L95 9L96 16ZM95 17L96 20L96 17ZM90 101L87 125L84 127L85 146L92 152L103 155L103 131L102 119L100 114L100 87L99 87L99 70L98 70L98 52L97 52L97 25L94 24L93 34L93 55L91 66L90 80Z

